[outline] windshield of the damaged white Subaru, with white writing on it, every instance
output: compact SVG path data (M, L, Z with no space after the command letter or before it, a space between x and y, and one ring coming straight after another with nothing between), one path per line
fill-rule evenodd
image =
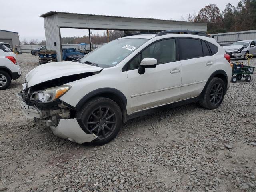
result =
M148 39L116 39L85 55L80 61L96 63L99 67L112 67L147 41Z

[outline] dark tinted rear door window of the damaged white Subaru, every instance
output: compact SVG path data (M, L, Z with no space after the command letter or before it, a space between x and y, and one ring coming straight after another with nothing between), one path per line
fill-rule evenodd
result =
M192 38L179 38L180 59L191 59L203 56L201 40Z

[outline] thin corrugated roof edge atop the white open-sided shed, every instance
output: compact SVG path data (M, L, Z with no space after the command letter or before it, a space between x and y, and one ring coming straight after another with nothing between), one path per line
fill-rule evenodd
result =
M121 17L121 16L112 16L112 15L95 15L95 14L82 14L82 13L69 13L69 12L58 12L58 11L49 11L40 15L40 17L48 17L57 13L64 14L76 14L76 15L88 15L88 16L102 16L102 17L116 17L116 18L129 18L129 19L150 19L150 20L159 20L159 21L173 21L173 22L186 22L186 23L207 23L207 22L188 22L188 21L174 21L166 19L154 19L154 18L140 18L140 17Z

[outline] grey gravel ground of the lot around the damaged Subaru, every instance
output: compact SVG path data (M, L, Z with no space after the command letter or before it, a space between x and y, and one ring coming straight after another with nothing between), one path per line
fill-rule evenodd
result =
M216 110L193 103L129 120L93 147L24 118L15 93L38 59L18 62L21 78L0 91L0 191L256 191L255 74L230 84Z

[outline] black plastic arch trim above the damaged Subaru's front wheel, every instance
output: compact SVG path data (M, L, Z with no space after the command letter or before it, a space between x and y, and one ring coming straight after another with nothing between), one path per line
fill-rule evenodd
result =
M99 88L99 89L93 90L92 92L86 94L76 104L76 109L79 110L85 104L85 102L88 101L93 96L97 96L97 95L100 95L100 94L106 94L106 93L112 93L112 94L118 96L122 100L122 104L124 105L123 106L124 110L126 110L126 105L127 105L127 98L126 98L126 96L124 96L124 94L122 92L120 92L119 90L117 90L115 88L110 88L110 87Z

